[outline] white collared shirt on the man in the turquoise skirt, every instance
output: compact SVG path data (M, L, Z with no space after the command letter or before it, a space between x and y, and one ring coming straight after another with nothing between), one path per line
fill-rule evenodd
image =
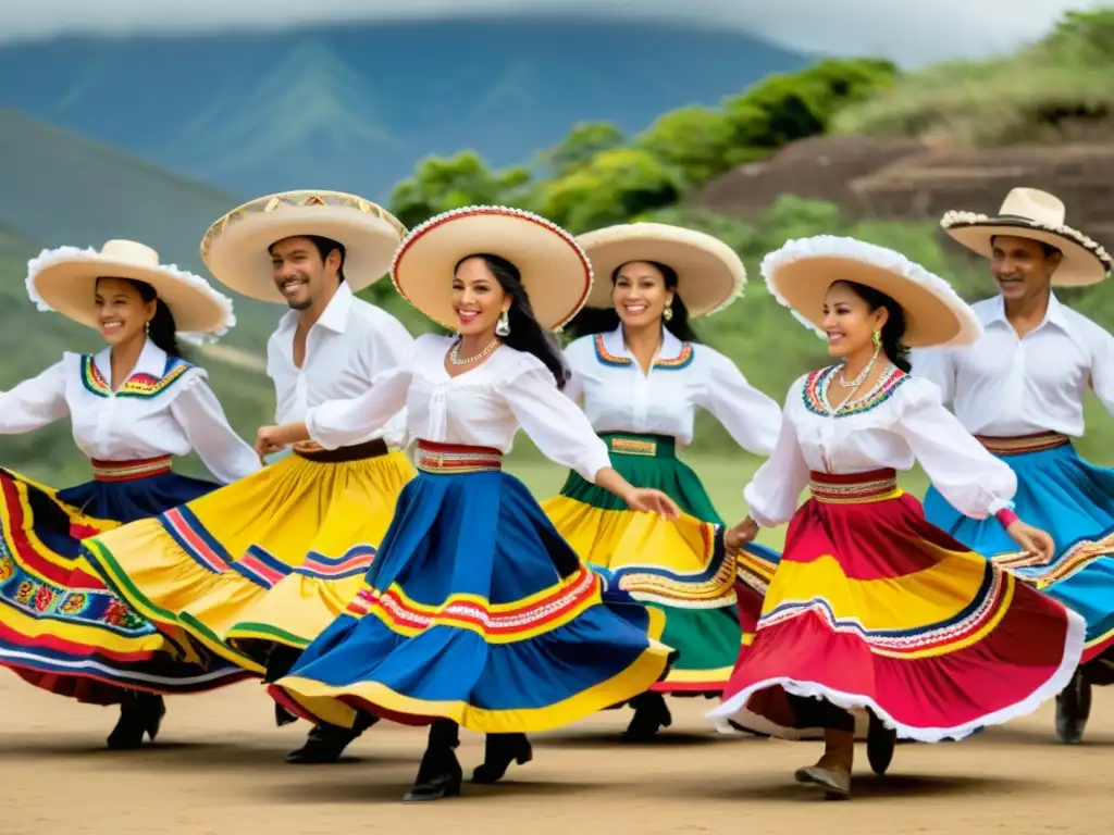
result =
M990 438L1083 435L1087 386L1114 412L1114 336L1056 296L1018 337L1001 296L971 305L984 334L969 347L912 353L913 373L940 386L967 431Z

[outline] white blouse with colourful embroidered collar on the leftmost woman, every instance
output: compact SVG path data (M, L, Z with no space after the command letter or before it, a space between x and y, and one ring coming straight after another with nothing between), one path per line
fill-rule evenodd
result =
M67 352L37 377L0 393L0 433L31 432L68 413L74 440L90 459L136 461L194 450L226 484L258 470L260 459L228 425L205 371L167 360L148 340L114 392L111 348L96 356Z

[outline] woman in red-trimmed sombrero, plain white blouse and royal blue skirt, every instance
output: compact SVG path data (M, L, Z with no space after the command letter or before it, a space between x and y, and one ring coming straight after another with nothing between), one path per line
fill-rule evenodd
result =
M629 598L613 607L526 487L501 471L519 426L632 508L678 511L612 469L607 446L559 391L567 371L544 328L567 322L592 286L564 229L518 209L458 209L410 233L392 277L460 336L421 336L409 363L365 395L260 430L260 451L307 438L328 449L405 404L419 439L418 478L359 597L271 691L312 720L348 726L356 707L432 723L405 798L431 800L460 790L459 725L491 735L473 779L492 782L529 757L522 734L645 691L672 655L649 637L661 618Z

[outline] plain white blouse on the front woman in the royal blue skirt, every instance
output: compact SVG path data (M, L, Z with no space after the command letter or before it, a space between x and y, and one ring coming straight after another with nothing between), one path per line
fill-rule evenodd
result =
M506 454L521 426L545 455L590 482L612 465L607 445L537 357L504 345L451 377L444 357L452 342L449 336L419 336L407 364L378 375L361 396L310 409L310 436L325 449L345 446L405 405L407 431L414 439Z

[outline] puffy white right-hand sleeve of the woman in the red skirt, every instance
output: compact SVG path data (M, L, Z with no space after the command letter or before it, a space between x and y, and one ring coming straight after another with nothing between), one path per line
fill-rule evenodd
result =
M939 386L911 377L898 396L901 411L893 429L951 507L973 519L1013 507L1017 475L945 409Z

